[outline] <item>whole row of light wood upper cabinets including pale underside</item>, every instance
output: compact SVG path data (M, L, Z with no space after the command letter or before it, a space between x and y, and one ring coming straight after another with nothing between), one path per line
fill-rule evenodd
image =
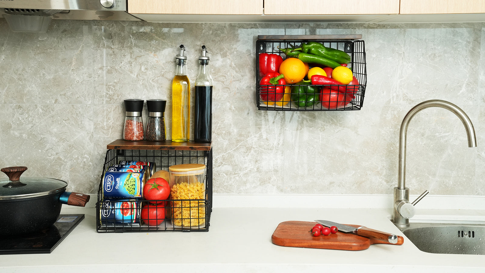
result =
M485 22L485 0L128 0L148 22Z

